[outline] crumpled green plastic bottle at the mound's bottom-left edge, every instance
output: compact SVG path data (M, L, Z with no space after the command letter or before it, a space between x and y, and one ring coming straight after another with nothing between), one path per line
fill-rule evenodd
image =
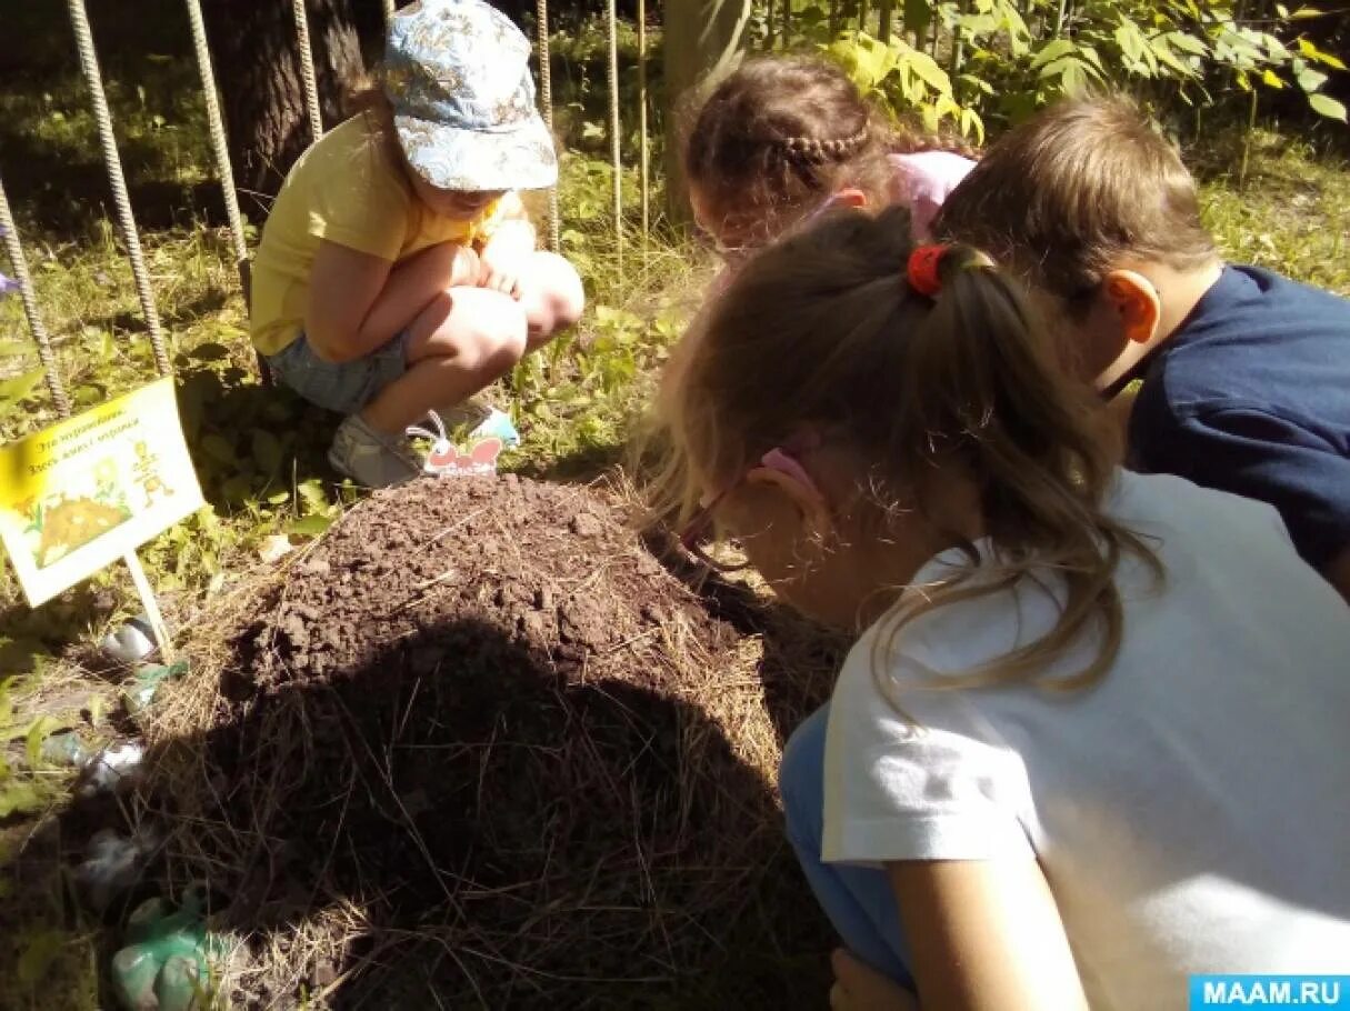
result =
M211 958L221 954L194 892L177 908L147 899L127 921L127 946L112 957L113 993L124 1011L192 1011L207 991Z

